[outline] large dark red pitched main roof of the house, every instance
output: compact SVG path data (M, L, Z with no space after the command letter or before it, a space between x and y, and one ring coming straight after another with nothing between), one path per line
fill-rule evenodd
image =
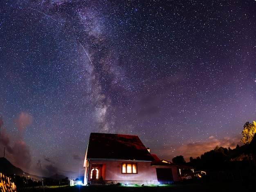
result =
M90 134L87 159L154 160L138 136L107 133Z

